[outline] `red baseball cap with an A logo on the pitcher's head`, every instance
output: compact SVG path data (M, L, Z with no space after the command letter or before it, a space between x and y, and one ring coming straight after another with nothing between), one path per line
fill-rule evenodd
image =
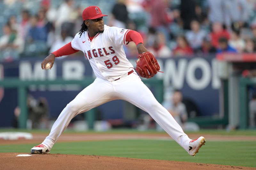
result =
M98 6L88 6L87 8L84 9L82 14L83 20L96 19L104 16L108 16L108 15L102 14Z

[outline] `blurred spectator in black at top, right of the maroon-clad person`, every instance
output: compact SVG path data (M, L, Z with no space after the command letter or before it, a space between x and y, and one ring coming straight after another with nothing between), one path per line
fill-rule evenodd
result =
M190 29L190 22L196 19L196 2L195 0L181 0L180 17L183 21L183 29Z

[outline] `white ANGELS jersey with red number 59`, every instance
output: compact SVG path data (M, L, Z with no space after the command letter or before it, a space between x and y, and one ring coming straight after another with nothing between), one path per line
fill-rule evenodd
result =
M90 41L88 31L79 33L71 41L72 48L84 52L96 77L110 82L131 71L133 66L126 58L123 45L130 30L104 25L104 32L97 33Z

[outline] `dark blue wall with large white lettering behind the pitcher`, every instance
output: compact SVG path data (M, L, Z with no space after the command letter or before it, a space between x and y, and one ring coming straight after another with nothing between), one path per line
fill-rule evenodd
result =
M21 80L80 80L95 77L90 64L83 57L57 58L52 70L42 70L43 59L20 59L10 63L0 63L1 79L20 78ZM135 59L130 59L135 65ZM193 100L199 108L200 115L219 115L219 88L216 59L213 57L191 57L175 59L158 59L161 71L155 78L163 79L165 89L180 89L184 98ZM77 85L30 86L29 94L35 98L44 96L49 104L50 115L57 118L61 110L82 88ZM152 89L154 91L154 89ZM169 96L165 98L168 98ZM207 94L207 95L206 95ZM0 89L0 127L12 126L14 108L17 106L16 89ZM115 110L113 110L115 106ZM118 106L118 107L116 107ZM112 101L98 109L102 119L122 119L122 101Z

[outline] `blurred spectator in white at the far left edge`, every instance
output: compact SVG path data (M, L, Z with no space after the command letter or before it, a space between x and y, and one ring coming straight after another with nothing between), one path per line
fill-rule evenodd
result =
M23 51L23 41L11 26L6 24L3 27L3 33L0 37L0 60L12 61L19 57L19 53Z

